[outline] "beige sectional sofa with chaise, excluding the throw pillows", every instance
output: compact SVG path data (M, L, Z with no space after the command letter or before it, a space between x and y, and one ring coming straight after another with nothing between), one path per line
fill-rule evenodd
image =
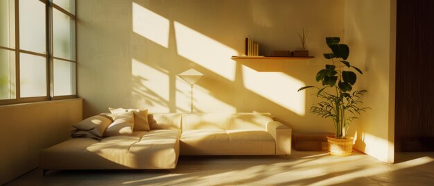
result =
M44 149L40 168L175 169L179 155L290 155L291 129L268 113L154 113L149 131L73 138Z

